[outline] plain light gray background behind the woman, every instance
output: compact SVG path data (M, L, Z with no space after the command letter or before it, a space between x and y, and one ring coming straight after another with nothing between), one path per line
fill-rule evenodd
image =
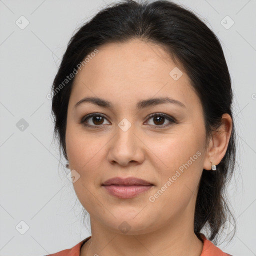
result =
M46 94L74 30L111 2L0 0L0 256L42 256L90 235L89 227L81 224L82 206L66 177L65 161L52 140ZM230 243L218 247L234 256L256 255L256 1L176 2L191 8L217 34L235 94L238 167L228 195L237 232ZM21 15L29 21L23 29ZM228 29L224 26L231 19L226 15L234 21ZM22 118L27 127L20 126Z

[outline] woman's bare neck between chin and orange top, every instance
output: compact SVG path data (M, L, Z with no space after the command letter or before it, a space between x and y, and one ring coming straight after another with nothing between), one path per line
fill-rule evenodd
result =
M99 231L93 220L91 223L91 238L82 246L80 256L200 256L203 247L193 229L189 232L187 227L183 229L179 225L179 232L160 228L144 234L128 235L101 228Z

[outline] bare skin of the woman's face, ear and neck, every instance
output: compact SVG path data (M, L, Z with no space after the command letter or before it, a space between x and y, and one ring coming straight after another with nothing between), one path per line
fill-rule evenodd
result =
M80 255L199 256L203 244L193 231L198 183L203 168L211 169L210 160L218 164L224 156L231 117L222 116L219 132L205 147L200 100L185 70L166 51L135 39L97 49L76 74L67 109L66 152L70 169L80 175L73 186L90 215L92 235ZM176 66L183 74L174 80L169 72ZM85 96L103 98L113 108L89 102L74 107ZM185 107L164 103L136 109L139 100L165 96ZM95 128L86 127L80 121L90 113L105 118L89 118L87 123ZM165 113L177 122L154 120L152 113ZM126 131L118 126L123 118L131 124ZM164 124L169 125L160 128ZM149 201L197 151L200 156ZM154 186L130 199L116 198L101 186L115 176L135 176ZM118 227L123 221L129 225L127 233Z

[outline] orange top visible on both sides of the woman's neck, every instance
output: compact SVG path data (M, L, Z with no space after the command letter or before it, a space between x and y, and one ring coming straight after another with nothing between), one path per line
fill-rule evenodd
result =
M210 240L208 240L203 233L200 233L203 239L202 252L200 256L232 256L228 253L223 252L217 246L215 246ZM90 238L91 236L86 237L82 241L78 242L70 249L64 249L59 252L48 254L46 256L79 256L81 246Z

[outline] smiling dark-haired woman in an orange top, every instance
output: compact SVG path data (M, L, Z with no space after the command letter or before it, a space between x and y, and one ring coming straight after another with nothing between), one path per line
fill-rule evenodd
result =
M70 39L52 96L91 236L51 255L230 255L213 239L235 230L223 196L235 162L231 82L195 14L166 0L99 11Z

